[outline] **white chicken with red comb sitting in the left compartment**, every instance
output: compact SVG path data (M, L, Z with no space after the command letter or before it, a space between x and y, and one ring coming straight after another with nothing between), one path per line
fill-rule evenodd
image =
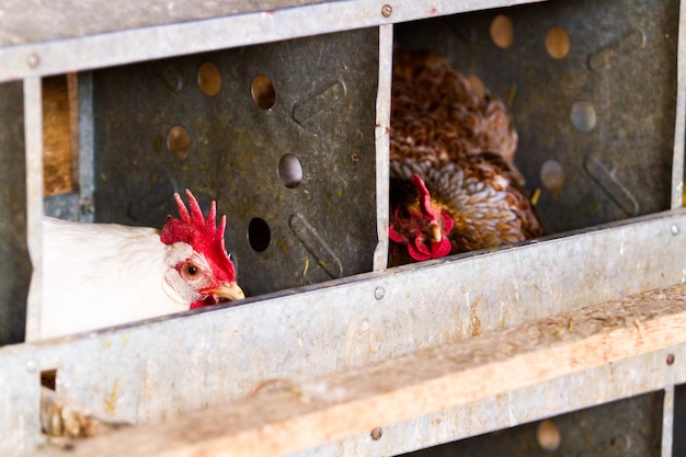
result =
M186 208L162 230L114 224L43 222L39 338L60 336L244 298L224 245L226 216ZM188 210L190 209L190 210Z

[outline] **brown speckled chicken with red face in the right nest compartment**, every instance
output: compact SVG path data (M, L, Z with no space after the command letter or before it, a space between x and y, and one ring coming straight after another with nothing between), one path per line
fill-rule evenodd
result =
M503 102L436 54L393 59L389 266L541 236Z

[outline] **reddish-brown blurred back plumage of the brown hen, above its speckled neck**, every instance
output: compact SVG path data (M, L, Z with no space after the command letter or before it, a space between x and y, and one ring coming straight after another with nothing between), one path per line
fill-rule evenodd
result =
M393 54L391 160L439 164L491 151L512 163L517 133L503 102L470 82L434 53Z

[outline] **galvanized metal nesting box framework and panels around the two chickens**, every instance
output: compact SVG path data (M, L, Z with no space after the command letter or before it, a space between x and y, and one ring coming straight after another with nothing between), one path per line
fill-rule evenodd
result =
M0 344L23 336L26 244L39 265L39 81L53 73L79 71L84 179L70 202L81 217L159 226L173 191L218 199L241 284L259 296L0 349L0 453L43 442L42 373L98 415L141 424L243 398L265 379L339 373L684 281L677 2L266 3L207 2L199 14L184 3L141 19L111 2L112 22L75 13L83 36L62 16L47 35L0 33L0 157L11 163L0 210L14 216L0 219L0 274L12 279L0 283ZM499 15L514 27L508 46L490 34ZM563 58L546 50L554 27L570 38ZM393 33L508 102L516 163L540 191L545 227L563 236L385 271ZM659 390L686 378L678 366L659 372L663 352L401 421L381 443L365 433L302 455L393 455ZM606 386L584 393L588 379Z

